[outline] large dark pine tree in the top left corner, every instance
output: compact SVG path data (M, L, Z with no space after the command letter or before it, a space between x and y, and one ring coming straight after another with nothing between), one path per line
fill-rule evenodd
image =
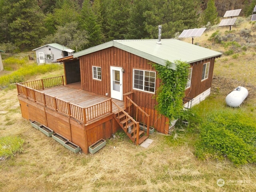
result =
M21 50L30 50L38 46L45 28L40 21L44 19L37 0L5 0L0 10L0 29L5 42L14 42Z

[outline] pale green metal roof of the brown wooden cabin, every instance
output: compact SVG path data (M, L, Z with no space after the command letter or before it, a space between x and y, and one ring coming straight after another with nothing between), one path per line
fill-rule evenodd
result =
M114 46L160 65L165 66L166 60L168 60L173 63L171 68L175 69L175 60L192 63L222 55L220 52L176 39L162 39L161 44L158 44L157 42L158 40L156 39L112 40L110 42L74 53L74 58Z

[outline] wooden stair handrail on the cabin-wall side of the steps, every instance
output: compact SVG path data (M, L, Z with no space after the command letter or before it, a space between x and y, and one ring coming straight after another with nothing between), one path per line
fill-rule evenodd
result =
M136 120L141 119L142 120L142 124L143 124L143 128L145 128L145 125L148 126L147 128L147 136L149 136L149 126L150 126L150 115L148 115L144 110L142 110L142 108L140 108L133 100L132 97L133 96L133 92L129 92L125 94L125 99L124 99L124 106L126 108L128 108L128 112L130 113L131 107L132 105L134 105L135 107L135 114L134 117L136 118Z

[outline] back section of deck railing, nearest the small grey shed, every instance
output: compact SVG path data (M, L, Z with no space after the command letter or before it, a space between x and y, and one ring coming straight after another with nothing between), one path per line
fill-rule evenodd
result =
M36 90L44 90L45 88L64 85L64 76L62 75L58 77L46 78L41 80L27 81L19 84Z

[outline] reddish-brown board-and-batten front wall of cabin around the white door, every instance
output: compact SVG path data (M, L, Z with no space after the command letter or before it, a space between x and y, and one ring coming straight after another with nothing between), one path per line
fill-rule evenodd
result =
M100 95L110 95L110 66L121 67L124 69L123 75L123 94L134 92L133 100L146 113L151 116L150 126L158 132L168 134L169 120L168 118L157 114L154 110L157 104L154 99L155 94L142 92L132 89L133 69L154 71L152 62L121 50L116 47L106 48L97 52L93 52L79 58L81 72L81 86L83 90L93 92ZM101 67L102 80L92 79L92 66ZM156 79L156 90L160 86L160 80Z

